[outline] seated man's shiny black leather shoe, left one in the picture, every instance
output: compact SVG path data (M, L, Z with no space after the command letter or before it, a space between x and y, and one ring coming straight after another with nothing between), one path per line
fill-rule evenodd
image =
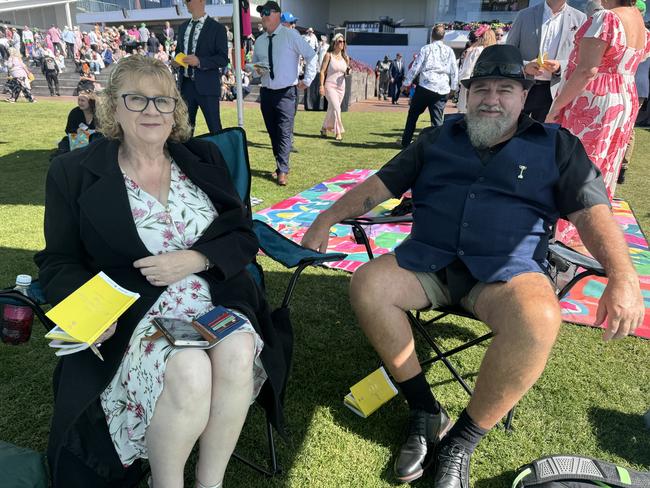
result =
M420 478L433 460L436 444L451 427L444 409L434 415L423 410L411 410L408 437L395 459L395 476L402 482Z

